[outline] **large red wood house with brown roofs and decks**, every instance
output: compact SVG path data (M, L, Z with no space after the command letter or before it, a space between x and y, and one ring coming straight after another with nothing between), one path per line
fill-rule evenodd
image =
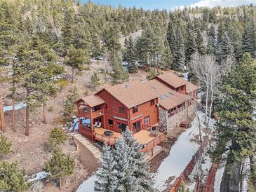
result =
M103 88L76 102L79 132L114 145L128 128L151 158L163 149L166 132L194 113L197 87L190 86L175 74L166 74Z

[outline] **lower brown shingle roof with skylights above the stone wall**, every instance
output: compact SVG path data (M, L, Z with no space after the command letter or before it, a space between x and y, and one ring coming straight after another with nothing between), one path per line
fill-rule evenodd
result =
M148 84L154 87L154 90L159 94L159 104L167 110L192 99L191 96L180 94L156 79L148 81Z

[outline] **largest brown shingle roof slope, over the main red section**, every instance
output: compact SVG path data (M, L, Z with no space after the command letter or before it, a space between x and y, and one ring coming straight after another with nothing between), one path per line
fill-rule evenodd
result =
M130 81L107 87L105 90L129 109L159 96L147 82L142 81Z

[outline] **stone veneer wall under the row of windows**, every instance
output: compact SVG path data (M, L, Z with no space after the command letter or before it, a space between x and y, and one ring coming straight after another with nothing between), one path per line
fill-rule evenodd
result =
M191 104L177 114L168 117L168 111L159 107L159 125L163 128L166 128L167 132L177 128L177 126L182 123L187 117L191 116L196 112L196 103Z

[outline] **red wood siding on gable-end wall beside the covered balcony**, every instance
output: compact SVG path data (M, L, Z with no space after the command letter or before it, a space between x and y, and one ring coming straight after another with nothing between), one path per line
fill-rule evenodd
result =
M128 121L122 121L119 119L114 118L114 116L119 118L125 118L128 119L128 108L125 107L119 100L116 100L115 97L113 97L109 92L106 90L102 90L101 92L98 92L97 95L102 98L102 100L105 100L104 104L104 111L105 111L105 119L104 119L104 125L106 129L118 131L117 123L123 123L128 125ZM106 109L107 104L107 109ZM119 107L124 107L124 113L119 113ZM109 126L109 119L113 121L113 126Z

